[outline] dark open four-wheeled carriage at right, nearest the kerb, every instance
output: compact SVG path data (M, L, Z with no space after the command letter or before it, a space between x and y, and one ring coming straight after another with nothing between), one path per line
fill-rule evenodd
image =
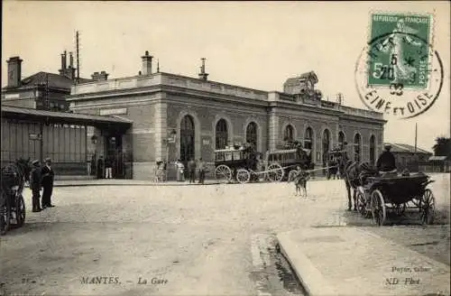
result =
M373 221L382 226L391 209L401 215L406 208L418 208L421 223L432 224L435 199L432 191L427 189L430 177L422 172L406 175L387 175L367 177L363 186L357 189L356 204L364 216L373 217Z

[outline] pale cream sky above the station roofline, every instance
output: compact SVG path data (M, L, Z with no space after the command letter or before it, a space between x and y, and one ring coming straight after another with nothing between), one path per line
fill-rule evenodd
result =
M108 79L137 75L149 51L163 72L198 77L206 58L208 79L282 91L286 79L315 71L317 88L344 104L364 106L354 69L373 12L433 14L434 48L444 65L444 85L420 116L385 116L384 141L415 143L432 151L450 136L450 5L448 2L3 2L2 87L9 57L23 59L23 78L58 73L60 53L75 52L80 36L80 76L106 70Z

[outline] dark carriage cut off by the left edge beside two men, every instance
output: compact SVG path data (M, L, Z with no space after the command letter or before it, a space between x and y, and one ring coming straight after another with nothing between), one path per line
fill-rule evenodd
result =
M18 160L1 171L0 188L0 234L5 235L13 225L22 227L25 222L25 200L23 188L29 180L30 164L26 160Z

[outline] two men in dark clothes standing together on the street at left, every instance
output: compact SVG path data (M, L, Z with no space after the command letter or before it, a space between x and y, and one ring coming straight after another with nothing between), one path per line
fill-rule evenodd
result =
M41 166L41 163L38 160L32 162L32 171L30 173L30 189L32 190L33 212L40 212L44 208L55 207L51 204L51 193L53 191L54 175L54 171L51 168L50 158L45 159L43 166Z

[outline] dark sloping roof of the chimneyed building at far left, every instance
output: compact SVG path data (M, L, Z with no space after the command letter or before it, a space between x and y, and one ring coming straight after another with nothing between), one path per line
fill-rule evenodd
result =
M49 88L60 88L60 89L68 89L75 83L74 80L69 79L66 76L49 73L49 72L38 72L33 74L26 79L23 79L21 82L21 86L18 88L4 88L4 89L24 89L24 88L32 88L36 85L45 85L49 81ZM79 79L80 83L92 82L92 79Z

